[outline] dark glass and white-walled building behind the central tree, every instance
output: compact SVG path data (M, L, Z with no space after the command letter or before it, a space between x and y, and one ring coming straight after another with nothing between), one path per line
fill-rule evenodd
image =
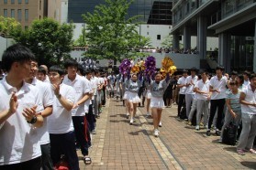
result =
M150 37L151 46L161 48L164 37L168 37L172 29L173 0L135 0L128 8L128 17L139 15L138 27L141 36ZM68 3L68 22L75 24L74 37L77 39L86 27L82 15L94 13L95 5L105 4L105 0L70 0Z

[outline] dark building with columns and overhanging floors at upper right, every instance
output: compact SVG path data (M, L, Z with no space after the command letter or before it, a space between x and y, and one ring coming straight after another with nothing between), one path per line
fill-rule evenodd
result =
M190 48L191 37L201 59L206 59L206 38L218 37L218 65L227 71L256 71L256 0L173 0L173 46Z

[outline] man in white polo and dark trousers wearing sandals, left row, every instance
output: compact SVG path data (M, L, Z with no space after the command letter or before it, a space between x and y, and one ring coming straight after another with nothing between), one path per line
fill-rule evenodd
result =
M86 83L85 78L79 76L77 72L78 62L75 59L67 59L64 63L64 67L67 70L63 83L71 86L75 90L75 101L72 108L72 123L74 127L74 133L76 143L80 145L81 152L83 154L84 164L90 164L91 158L88 156L89 146L85 140L85 111L84 104L89 105L91 101L92 90L90 84Z

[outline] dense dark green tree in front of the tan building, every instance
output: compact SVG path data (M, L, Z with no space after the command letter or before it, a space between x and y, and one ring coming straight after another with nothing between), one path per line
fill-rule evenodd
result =
M19 30L14 39L30 48L39 64L60 64L72 50L72 24L59 24L50 18L36 19L28 30Z

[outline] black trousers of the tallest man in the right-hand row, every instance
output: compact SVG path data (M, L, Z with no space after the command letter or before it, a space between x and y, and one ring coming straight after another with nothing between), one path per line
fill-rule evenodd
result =
M223 110L225 105L225 99L211 100L210 117L208 120L208 129L212 127L213 119L217 111L217 129L222 128Z

